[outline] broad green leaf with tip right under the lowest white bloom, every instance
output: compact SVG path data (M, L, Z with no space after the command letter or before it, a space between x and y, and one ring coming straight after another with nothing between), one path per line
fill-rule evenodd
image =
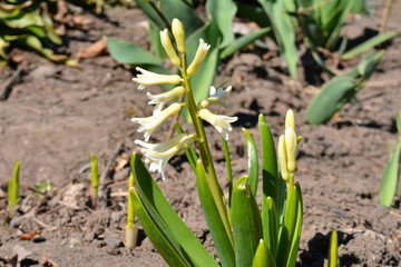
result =
M148 170L138 155L133 154L131 171L135 178L135 188L154 222L164 233L168 233L177 244L179 251L192 263L193 266L218 267L217 263L192 234L188 227L178 217L170 204L166 200L162 190L150 177ZM139 217L139 211L138 211ZM140 217L139 217L140 218ZM156 247L157 249L162 249Z

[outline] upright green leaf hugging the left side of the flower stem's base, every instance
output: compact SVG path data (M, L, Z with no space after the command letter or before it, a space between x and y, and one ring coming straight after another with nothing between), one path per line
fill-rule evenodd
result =
M196 165L196 185L202 209L204 210L206 222L209 227L221 264L223 267L235 266L234 247L231 237L227 236L218 209L213 200L200 160L198 160Z

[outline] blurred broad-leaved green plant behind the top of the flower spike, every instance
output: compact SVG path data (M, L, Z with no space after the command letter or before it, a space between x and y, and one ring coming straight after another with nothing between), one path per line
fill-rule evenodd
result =
M163 65L163 59L165 59L167 55L163 49L159 32L166 28L170 29L172 26L169 24L169 21L174 18L178 18L186 26L186 46L188 47L186 55L188 59L195 57L199 38L209 40L212 46L212 49L199 67L199 72L190 77L192 82L196 85L196 90L194 90L196 101L207 97L219 60L232 56L271 31L270 27L265 27L235 39L232 26L237 7L232 0L206 1L205 8L207 18L205 21L196 14L189 1L136 0L136 2L137 7L148 17L150 24L150 47L154 53L149 53L134 43L107 38L107 44L111 57L118 62L131 67L141 67L164 75L172 73L172 71ZM162 85L162 87L165 90L172 89L168 85ZM187 112L186 117L189 118Z

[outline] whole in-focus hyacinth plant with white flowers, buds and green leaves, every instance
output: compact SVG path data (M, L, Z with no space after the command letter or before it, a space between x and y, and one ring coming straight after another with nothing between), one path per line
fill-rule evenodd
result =
M176 48L172 43L170 33ZM177 19L173 20L170 33L167 29L162 31L160 39L180 75L159 75L137 68L141 73L134 78L140 85L138 89L159 83L177 86L160 95L147 93L149 105L156 105L153 116L131 119L140 125L138 132L144 132L145 141L135 142L143 147L145 162L149 165L150 171L160 172L165 179L168 160L185 151L195 172L200 205L221 266L295 266L303 204L300 185L294 180L299 141L294 113L291 110L286 113L285 132L278 139L277 155L270 127L264 116L260 115L261 169L255 141L247 130L243 130L247 144L248 175L234 182L228 178L231 190L227 202L215 171L204 121L215 127L224 140L227 176L232 177L227 140L232 131L231 123L237 117L216 115L208 110L209 106L216 103L227 107L231 87L212 88L209 96L196 103L193 85L197 85L189 77L203 70L200 62L214 49L200 39L194 60L187 65L186 51L189 47L185 43L184 27ZM164 109L167 102L177 98L182 100ZM195 134L188 135L177 125L176 137L160 144L148 142L153 131L182 108L188 109ZM131 174L135 185L129 194L135 210L145 233L164 259L170 266L219 266L175 212L137 154L131 157ZM260 176L262 209L256 201Z

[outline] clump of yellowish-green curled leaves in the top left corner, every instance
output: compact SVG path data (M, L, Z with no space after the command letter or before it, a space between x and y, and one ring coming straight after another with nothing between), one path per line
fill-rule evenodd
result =
M49 13L41 8L46 1L13 1L0 2L0 62L7 65L9 51L12 47L33 50L47 59L77 66L67 56L55 55L50 43L61 44L56 33Z

